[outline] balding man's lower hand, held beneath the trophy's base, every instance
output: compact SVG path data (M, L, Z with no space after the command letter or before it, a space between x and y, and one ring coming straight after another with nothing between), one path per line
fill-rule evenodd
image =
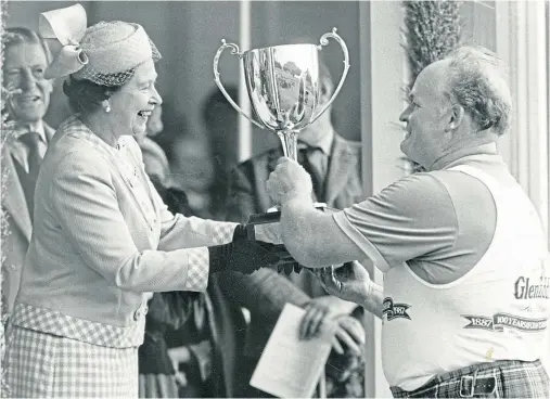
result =
M363 305L369 296L371 279L364 267L357 262L347 262L340 268L312 269L324 289L344 300Z

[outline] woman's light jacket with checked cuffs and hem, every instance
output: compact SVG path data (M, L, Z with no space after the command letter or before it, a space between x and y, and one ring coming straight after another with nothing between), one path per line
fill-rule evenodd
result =
M136 346L143 340L144 293L206 289L205 246L230 242L234 223L169 213L137 142L123 137L119 143L110 147L76 117L55 133L36 186L40 201L14 324L94 345Z

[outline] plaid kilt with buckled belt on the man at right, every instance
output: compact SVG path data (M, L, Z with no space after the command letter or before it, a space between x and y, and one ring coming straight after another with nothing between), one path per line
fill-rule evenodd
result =
M472 395L474 388L484 383L489 388L482 390L488 392ZM490 389L493 384L495 388ZM413 391L398 387L391 389L394 398L549 398L550 379L539 360L504 360L437 375Z

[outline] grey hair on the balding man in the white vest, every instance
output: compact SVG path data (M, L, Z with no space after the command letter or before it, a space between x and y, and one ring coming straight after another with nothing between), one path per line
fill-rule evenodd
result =
M500 60L485 48L461 47L446 60L448 91L470 113L479 130L490 127L498 136L510 128L512 96Z

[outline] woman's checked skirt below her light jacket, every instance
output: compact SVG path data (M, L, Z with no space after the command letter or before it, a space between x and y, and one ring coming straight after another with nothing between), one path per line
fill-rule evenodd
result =
M13 326L5 377L15 398L138 397L138 348L106 348Z

